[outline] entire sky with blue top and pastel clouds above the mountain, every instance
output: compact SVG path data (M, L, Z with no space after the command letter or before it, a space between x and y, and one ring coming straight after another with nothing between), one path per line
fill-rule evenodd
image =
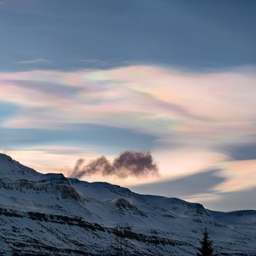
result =
M1 0L0 152L38 172L256 209L254 0Z

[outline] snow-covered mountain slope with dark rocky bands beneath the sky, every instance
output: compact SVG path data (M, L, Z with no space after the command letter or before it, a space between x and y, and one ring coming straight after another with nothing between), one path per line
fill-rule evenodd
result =
M256 211L214 212L110 183L42 174L0 154L0 255L256 255Z

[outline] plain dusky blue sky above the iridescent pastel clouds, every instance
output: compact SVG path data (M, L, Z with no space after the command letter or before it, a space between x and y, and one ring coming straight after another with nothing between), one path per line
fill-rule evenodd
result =
M253 0L2 1L1 66L67 70L146 62L195 69L253 64L254 9Z

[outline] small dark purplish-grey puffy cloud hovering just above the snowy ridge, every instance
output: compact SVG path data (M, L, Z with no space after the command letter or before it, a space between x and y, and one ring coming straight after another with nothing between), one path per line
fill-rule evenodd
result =
M96 160L90 160L88 164L84 165L84 159L79 159L70 177L81 178L94 174L120 178L129 176L145 177L148 175L159 175L159 169L154 162L153 156L148 151L125 151L119 154L113 162L102 156Z

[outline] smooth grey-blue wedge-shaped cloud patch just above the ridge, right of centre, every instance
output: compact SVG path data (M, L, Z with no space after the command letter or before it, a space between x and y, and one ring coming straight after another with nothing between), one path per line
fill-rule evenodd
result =
M141 194L166 195L169 197L186 197L196 194L209 193L224 177L218 177L218 169L195 173L166 182L148 183L130 187Z

